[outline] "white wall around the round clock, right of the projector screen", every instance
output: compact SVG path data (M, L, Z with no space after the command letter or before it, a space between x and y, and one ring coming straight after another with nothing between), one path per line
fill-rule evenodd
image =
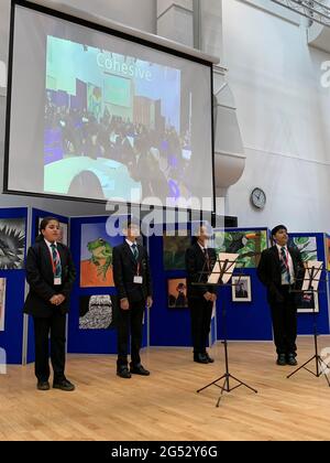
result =
M330 88L321 86L321 63L330 55L309 49L292 18L257 3L267 0L222 2L223 64L248 157L227 212L240 226L329 232ZM255 186L267 194L263 212L250 205Z

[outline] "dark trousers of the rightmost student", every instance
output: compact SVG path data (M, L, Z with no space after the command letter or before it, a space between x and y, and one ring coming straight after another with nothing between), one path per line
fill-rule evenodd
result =
M282 287L279 293L284 301L271 303L276 352L278 355L296 355L297 305L295 294L289 293L288 287Z

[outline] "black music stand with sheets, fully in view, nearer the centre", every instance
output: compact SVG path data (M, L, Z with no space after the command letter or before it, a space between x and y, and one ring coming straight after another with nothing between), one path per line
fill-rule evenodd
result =
M228 276L229 274L230 276L232 274L235 260L229 260L229 259L220 260L220 259L217 259L217 262L220 266L218 282L217 283L204 282L202 284L204 286L205 284L207 284L207 286L213 286L213 287L216 287L218 289L218 292L219 292L219 288L220 287L224 288L224 287L233 287L233 286L239 284L239 282L238 283L230 283L230 282L223 283L224 276L227 276L226 279L228 280ZM201 273L205 273L205 271L202 271ZM212 272L212 273L215 274L215 272ZM201 278L201 276L200 276L200 278ZM230 280L230 278L229 278L229 280ZM195 284L200 284L200 283L195 283ZM229 370L229 355L228 355L228 341L227 341L227 313L226 313L224 298L223 298L223 301L222 301L222 322L223 322L223 342L222 342L222 344L224 346L226 372L219 378L215 379L213 381L209 383L208 385L206 385L202 388L200 388L200 389L197 390L197 392L201 392L202 390L207 389L210 386L217 386L218 388L220 388L221 389L221 392L220 392L220 396L218 398L218 401L217 401L217 406L216 407L219 407L220 400L222 398L223 392L231 392L232 390L238 389L241 386L244 386L248 389L253 390L253 392L257 394L257 390L256 389L253 389L246 383L241 381L241 379L235 378L230 373L230 370ZM229 379L230 378L233 379L233 380L235 380L238 383L238 385L234 386L234 387L230 387L230 384L229 384ZM223 385L222 386L219 386L218 383L221 381L221 379L224 379L224 381L223 381Z

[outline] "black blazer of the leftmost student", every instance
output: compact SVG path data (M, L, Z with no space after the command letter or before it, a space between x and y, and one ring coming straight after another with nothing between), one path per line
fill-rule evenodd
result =
M50 249L42 239L35 243L28 251L26 281L30 291L24 304L24 313L37 317L52 316L54 310L67 313L69 310L69 295L76 278L74 261L67 246L57 243L57 250L62 265L62 284L54 287L54 273ZM50 299L55 294L65 295L64 302L56 306Z

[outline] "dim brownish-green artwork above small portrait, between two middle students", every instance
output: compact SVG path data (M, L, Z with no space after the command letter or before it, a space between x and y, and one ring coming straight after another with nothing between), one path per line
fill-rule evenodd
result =
M191 238L188 230L179 230L179 235L163 235L163 260L165 270L185 270L185 255L187 248L191 245ZM186 236L183 236L183 235Z

